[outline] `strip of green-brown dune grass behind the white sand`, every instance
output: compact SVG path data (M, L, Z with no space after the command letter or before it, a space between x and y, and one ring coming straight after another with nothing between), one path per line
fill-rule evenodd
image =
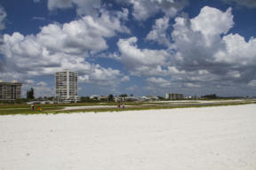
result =
M145 105L147 104L147 105ZM76 109L76 110L62 110L66 106L90 106L90 105L117 105L116 103L78 103L78 104L35 104L35 110L31 111L29 104L2 104L0 105L0 115L15 115L15 114L55 114L55 113L72 113L72 112L123 112L123 111L140 111L140 110L155 110L155 109L175 109L175 108L190 108L190 107L209 107L209 106L224 106L237 104L256 104L255 100L244 100L240 102L228 103L210 103L210 104L184 104L184 105L168 105L168 104L151 104L151 103L124 103L129 107L122 108L93 108L93 109ZM37 111L37 106L41 106L42 112Z

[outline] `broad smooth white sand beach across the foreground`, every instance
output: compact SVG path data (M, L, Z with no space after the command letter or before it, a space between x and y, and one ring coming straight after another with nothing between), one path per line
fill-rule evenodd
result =
M256 104L0 116L1 170L255 170Z

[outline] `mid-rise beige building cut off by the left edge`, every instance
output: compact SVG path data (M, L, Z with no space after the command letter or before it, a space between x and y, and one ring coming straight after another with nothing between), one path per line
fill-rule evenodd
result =
M0 100L10 101L21 98L21 82L0 81Z

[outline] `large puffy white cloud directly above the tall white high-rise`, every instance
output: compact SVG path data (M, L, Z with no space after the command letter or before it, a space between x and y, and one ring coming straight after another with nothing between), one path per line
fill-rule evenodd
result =
M87 50L105 50L108 48L105 37L116 35L116 31L128 33L117 17L104 12L100 18L94 19L85 16L82 19L72 21L60 26L51 24L42 28L37 35L38 41L67 53L83 53Z

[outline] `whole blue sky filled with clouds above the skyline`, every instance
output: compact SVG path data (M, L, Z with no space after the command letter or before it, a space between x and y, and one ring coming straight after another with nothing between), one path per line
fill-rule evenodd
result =
M54 96L256 96L255 0L0 0L0 79Z

